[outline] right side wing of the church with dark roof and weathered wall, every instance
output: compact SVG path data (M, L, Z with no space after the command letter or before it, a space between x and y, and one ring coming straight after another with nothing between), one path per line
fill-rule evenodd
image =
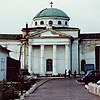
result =
M92 64L95 70L100 70L100 33L83 33L79 38L80 71L84 70L85 64Z

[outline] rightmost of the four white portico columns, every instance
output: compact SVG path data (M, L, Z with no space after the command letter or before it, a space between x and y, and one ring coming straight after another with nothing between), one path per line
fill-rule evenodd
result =
M65 69L68 71L70 70L70 45L65 45Z

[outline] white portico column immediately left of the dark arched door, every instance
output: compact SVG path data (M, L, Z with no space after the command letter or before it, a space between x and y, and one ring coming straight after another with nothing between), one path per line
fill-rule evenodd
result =
M40 59L40 74L42 76L45 75L45 71L44 71L44 45L40 46L40 52L41 52L41 59Z

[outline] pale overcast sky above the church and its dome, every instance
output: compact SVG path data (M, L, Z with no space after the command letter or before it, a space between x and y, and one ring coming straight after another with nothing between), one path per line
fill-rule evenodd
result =
M51 0L0 0L0 33L19 33ZM52 0L53 7L69 17L70 27L100 33L100 0Z

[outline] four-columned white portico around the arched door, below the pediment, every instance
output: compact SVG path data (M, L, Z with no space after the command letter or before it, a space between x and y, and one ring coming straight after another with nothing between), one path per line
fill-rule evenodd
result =
M65 56L58 58L60 52ZM38 56L34 56L34 53L35 55L37 53ZM35 63L38 63L38 65ZM31 44L29 46L28 65L31 74L35 73L34 70L37 69L37 73L40 73L41 76L45 76L46 74L58 75L60 73L59 66L61 67L62 73L64 73L65 69L70 70L70 44Z

